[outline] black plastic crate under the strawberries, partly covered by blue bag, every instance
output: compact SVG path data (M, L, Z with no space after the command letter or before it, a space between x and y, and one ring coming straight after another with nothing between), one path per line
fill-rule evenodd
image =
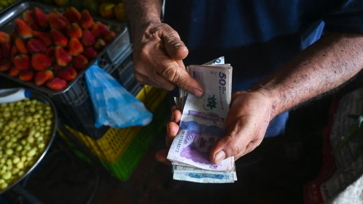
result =
M136 94L142 89L142 85L138 84L134 77L131 53L132 52L129 53L118 68L110 66L107 67L108 70L105 70L109 72L123 87L125 87L127 91L136 96ZM60 112L61 121L64 124L87 136L90 136L91 138L99 139L110 127L102 126L99 129L94 127L95 117L93 104L89 97L85 77L83 77L82 80L79 80L77 85L76 89L72 87L69 91L59 96L54 96L52 100L56 104Z

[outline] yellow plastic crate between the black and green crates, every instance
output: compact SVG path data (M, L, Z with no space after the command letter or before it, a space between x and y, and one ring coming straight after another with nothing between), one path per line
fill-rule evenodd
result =
M150 112L154 112L166 95L167 91L151 86L144 86L136 95L136 98L142 101ZM139 133L140 129L142 129L142 126L133 126L122 129L110 128L102 138L95 140L67 125L65 125L65 127L76 136L79 141L87 146L91 153L109 163L115 163L117 161L130 145L134 137ZM58 132L63 136L59 130Z

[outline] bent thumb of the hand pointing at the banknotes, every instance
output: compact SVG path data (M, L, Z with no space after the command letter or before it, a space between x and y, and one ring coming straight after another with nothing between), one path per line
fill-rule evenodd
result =
M182 60L187 57L189 51L184 42L180 40L179 34L170 28L163 32L162 40L168 55L175 60Z

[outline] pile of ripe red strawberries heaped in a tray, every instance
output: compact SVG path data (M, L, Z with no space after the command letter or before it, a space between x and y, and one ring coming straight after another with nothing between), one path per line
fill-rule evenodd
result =
M16 19L10 34L0 32L0 71L53 90L66 87L115 38L87 10L71 7L46 14L34 8L23 18Z

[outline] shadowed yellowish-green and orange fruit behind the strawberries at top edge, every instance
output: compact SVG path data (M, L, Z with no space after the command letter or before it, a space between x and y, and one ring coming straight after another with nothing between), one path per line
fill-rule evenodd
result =
M92 16L116 18L126 22L125 6L121 0L40 0L42 3L57 5L58 7L74 7L78 11L88 10Z

